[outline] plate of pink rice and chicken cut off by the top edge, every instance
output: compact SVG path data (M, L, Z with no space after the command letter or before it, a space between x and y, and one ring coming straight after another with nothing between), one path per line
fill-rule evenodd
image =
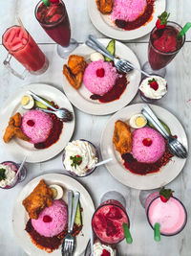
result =
M96 29L118 40L132 40L150 33L165 7L165 0L88 1L88 12Z

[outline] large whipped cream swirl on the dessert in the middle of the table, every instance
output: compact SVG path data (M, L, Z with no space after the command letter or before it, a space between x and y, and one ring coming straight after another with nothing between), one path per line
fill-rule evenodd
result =
M72 166L73 160L71 156L81 156L82 161L79 165ZM83 176L87 171L95 168L97 163L96 150L93 146L82 140L69 142L65 148L64 165L66 170L73 172L75 175Z

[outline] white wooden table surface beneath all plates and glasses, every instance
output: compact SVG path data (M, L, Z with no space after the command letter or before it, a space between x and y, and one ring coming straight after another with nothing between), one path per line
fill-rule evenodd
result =
M88 0L87 0L88 1ZM25 81L21 81L12 76L3 64L0 65L0 106L4 101L13 94L17 88L33 83L43 82L48 83L62 91L62 66L63 59L56 54L56 46L53 40L46 35L41 29L34 17L34 7L37 0L7 0L1 1L0 8L0 35L13 24L16 24L16 16L19 15L29 30L30 34L39 43L40 48L50 59L48 71L41 76L29 76ZM87 12L86 0L65 0L67 10L69 12L73 37L84 42L88 34L104 37L90 21ZM171 20L174 20L181 25L189 21L191 10L190 0L172 0L167 1L167 12L171 12ZM191 32L188 32L186 43L180 54L167 67L168 95L159 101L161 105L175 114L185 128L188 139L191 138L191 98L190 78L191 78ZM148 35L128 42L127 45L136 53L140 64L147 60ZM1 63L6 58L7 52L0 45ZM15 63L17 66L17 64ZM141 102L139 95L134 99L133 103ZM85 138L99 147L101 132L105 127L110 116L92 116L82 113L74 108L76 114L76 126L74 129L73 139ZM1 117L0 117L1 120ZM89 124L84 128L83 124ZM3 136L3 134L1 134ZM118 244L120 256L189 256L191 255L191 173L189 169L190 155L187 163L180 175L169 184L176 191L176 197L180 198L184 203L188 221L184 230L174 237L162 237L160 243L155 243L153 240L153 231L146 221L144 209L141 207L138 195L139 191L125 187L117 182L116 179L106 170L105 167L100 167L93 175L87 176L79 181L87 188L97 206L99 198L109 190L117 190L126 198L127 212L131 221L131 232L134 238L134 243L131 245L125 242ZM17 161L9 152L0 148L0 162L5 160ZM13 236L11 228L11 210L17 195L21 189L37 175L55 172L55 170L63 170L61 163L61 153L52 160L39 163L27 164L28 175L24 182L17 185L11 190L0 191L0 256L24 256L27 255L23 249L17 244ZM101 182L100 182L101 181ZM99 184L99 185L98 185Z

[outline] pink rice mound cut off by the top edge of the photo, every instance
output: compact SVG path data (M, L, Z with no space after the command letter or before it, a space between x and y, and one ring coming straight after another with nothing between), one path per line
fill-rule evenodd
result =
M133 21L144 12L146 6L146 0L115 0L111 18L113 21Z

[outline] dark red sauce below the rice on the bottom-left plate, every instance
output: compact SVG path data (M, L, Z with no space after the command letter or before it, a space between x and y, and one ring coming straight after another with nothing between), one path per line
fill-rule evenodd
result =
M74 224L74 236L76 236L81 229L82 226L77 226ZM35 244L38 248L44 249L50 253L54 249L57 249L60 244L62 244L64 237L68 233L68 226L66 226L66 228L60 234L54 236L53 238L41 236L38 232L36 232L32 226L32 219L27 222L25 230L29 233L33 244Z

